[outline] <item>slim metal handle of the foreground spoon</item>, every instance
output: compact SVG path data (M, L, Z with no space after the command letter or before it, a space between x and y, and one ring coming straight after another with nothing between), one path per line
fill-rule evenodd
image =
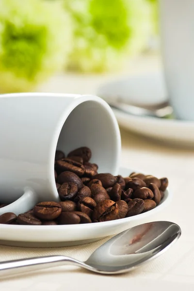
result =
M79 265L84 267L84 263L79 262L76 259L72 259L65 256L47 256L36 257L31 259L17 259L11 261L5 261L0 263L0 275L10 276L18 273L26 273L36 271L40 269L47 269L50 267L56 267L61 265Z

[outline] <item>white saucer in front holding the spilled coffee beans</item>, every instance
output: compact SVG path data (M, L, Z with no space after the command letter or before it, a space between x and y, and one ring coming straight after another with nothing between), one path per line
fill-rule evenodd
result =
M126 177L134 170L120 168L119 174ZM162 211L170 202L171 194L166 190L160 205L145 213L94 224L61 226L19 226L0 224L0 244L23 247L58 247L95 242L119 233L131 226L146 222L151 215ZM164 213L165 218L165 213Z

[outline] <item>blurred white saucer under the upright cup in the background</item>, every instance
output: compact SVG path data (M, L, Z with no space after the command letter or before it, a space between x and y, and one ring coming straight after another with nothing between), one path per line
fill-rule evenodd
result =
M155 96L154 96L155 94ZM100 86L97 95L105 100L120 97L130 104L147 106L167 101L162 73L144 74ZM194 146L194 122L135 116L113 109L121 127L179 146Z

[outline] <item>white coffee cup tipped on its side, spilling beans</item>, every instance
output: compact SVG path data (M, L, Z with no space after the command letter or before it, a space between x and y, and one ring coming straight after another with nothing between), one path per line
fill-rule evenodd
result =
M118 174L120 132L109 105L91 95L22 93L0 96L0 214L59 201L55 150L92 150L100 172Z

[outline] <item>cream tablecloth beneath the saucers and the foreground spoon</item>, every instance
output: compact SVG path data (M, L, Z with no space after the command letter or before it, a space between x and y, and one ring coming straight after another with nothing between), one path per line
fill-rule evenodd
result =
M139 62L140 60L138 60ZM132 61L128 74L150 71L160 67L156 58ZM150 62L152 65L149 66ZM136 69L133 70L132 68ZM151 69L150 69L151 67ZM124 72L126 74L126 72ZM98 84L113 80L115 75L104 76L56 76L44 84L40 91L63 93L95 93ZM121 130L122 157L121 165L141 170L146 174L168 177L172 203L152 220L169 220L177 223L182 230L178 242L161 257L140 266L127 274L107 276L89 273L76 267L57 267L34 273L17 275L12 278L0 278L0 291L20 290L75 290L98 289L112 291L163 290L176 288L194 290L194 149L160 144L157 141L137 136ZM30 258L45 255L67 255L85 260L106 239L87 245L62 248L19 248L0 245L0 260ZM150 284L151 283L151 284ZM62 289L63 288L63 289Z

